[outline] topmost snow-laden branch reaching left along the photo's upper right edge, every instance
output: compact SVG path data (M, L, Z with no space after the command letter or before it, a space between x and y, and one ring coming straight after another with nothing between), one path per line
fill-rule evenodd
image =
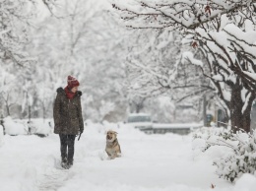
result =
M127 26L135 29L195 30L206 23L216 22L216 19L221 20L223 15L229 20L239 16L253 21L256 9L255 0L112 1L113 8L123 12L122 19L132 21ZM136 21L141 24L137 25Z

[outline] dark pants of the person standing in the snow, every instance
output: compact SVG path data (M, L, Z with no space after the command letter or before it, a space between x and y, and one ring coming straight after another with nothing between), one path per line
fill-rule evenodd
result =
M73 164L76 135L59 134L59 138L60 138L60 153L61 153L62 161L68 160L69 163Z

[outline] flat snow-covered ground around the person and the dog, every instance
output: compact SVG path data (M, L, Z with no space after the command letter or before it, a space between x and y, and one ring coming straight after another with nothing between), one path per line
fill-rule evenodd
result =
M0 144L0 190L90 191L252 191L256 178L245 174L231 184L215 174L212 161L221 151L192 150L191 136L146 135L127 126L114 127L123 153L107 159L105 127L90 124L76 141L75 161L59 166L59 138L50 134L4 136ZM1 141L1 140L0 140Z

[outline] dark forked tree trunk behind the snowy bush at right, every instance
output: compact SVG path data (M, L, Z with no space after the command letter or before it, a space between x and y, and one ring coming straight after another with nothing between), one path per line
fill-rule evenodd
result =
M242 86L237 84L232 88L231 99L229 102L231 129L234 133L240 129L250 132L250 113L255 95L251 94L250 98L247 100L247 103L245 103L241 98ZM245 104L247 104L247 106L243 110L243 106Z

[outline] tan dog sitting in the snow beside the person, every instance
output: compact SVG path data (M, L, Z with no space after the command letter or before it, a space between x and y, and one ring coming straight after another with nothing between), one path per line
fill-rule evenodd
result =
M117 140L117 133L112 130L106 132L106 146L105 152L109 159L121 157L121 148Z

